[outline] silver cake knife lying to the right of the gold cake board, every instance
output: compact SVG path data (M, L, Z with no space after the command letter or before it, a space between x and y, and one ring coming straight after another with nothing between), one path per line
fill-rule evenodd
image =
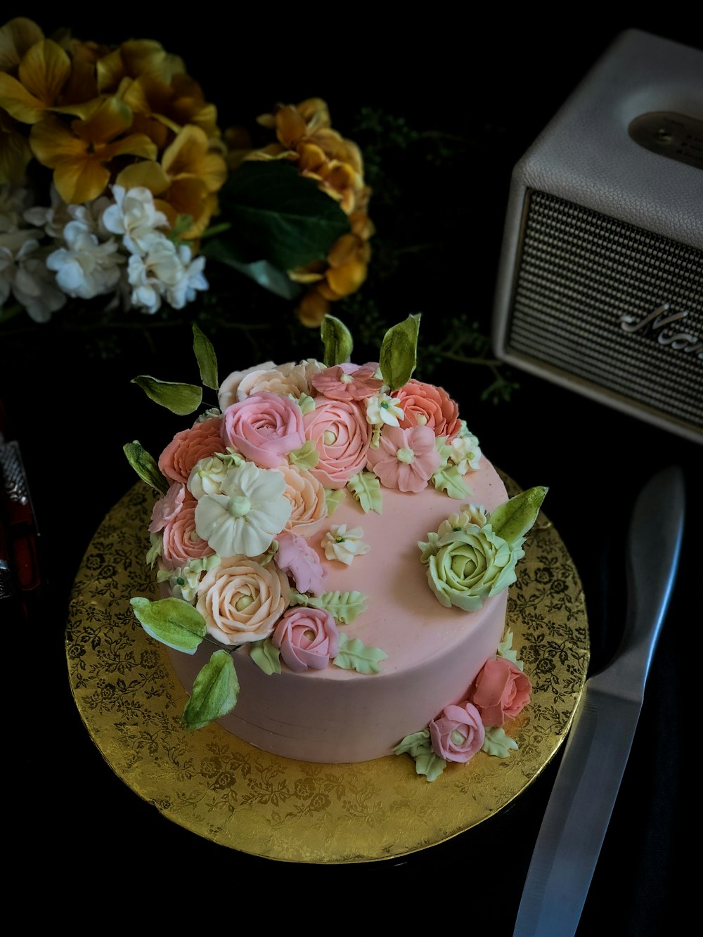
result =
M621 647L584 685L532 853L514 937L576 933L676 578L683 514L683 472L677 466L654 475L636 499Z

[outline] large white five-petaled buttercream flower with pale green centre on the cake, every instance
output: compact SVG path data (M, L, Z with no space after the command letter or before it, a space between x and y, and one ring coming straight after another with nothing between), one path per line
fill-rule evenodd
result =
M220 494L203 494L198 500L198 536L220 557L260 556L291 516L285 488L286 481L275 468L259 468L253 462L231 468Z

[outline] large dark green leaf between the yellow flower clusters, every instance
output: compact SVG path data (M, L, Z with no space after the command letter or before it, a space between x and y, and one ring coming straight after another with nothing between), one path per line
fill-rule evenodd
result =
M217 259L228 250L233 260L268 260L279 270L324 260L338 238L351 230L348 217L313 179L289 162L244 162L217 193L220 217L231 225L217 239ZM217 241L208 242L204 252Z

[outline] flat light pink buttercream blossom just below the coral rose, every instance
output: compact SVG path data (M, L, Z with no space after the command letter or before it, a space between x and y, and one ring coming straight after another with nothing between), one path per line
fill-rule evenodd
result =
M368 450L368 466L381 484L399 491L422 491L440 462L435 434L429 426L384 426L379 448Z

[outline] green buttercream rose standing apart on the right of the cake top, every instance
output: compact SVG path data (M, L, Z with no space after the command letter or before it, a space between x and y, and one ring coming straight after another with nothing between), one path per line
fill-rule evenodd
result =
M429 586L446 608L475 612L516 581L516 562L525 556L521 543L522 538L511 548L490 524L450 530L421 545L429 547L423 555Z

